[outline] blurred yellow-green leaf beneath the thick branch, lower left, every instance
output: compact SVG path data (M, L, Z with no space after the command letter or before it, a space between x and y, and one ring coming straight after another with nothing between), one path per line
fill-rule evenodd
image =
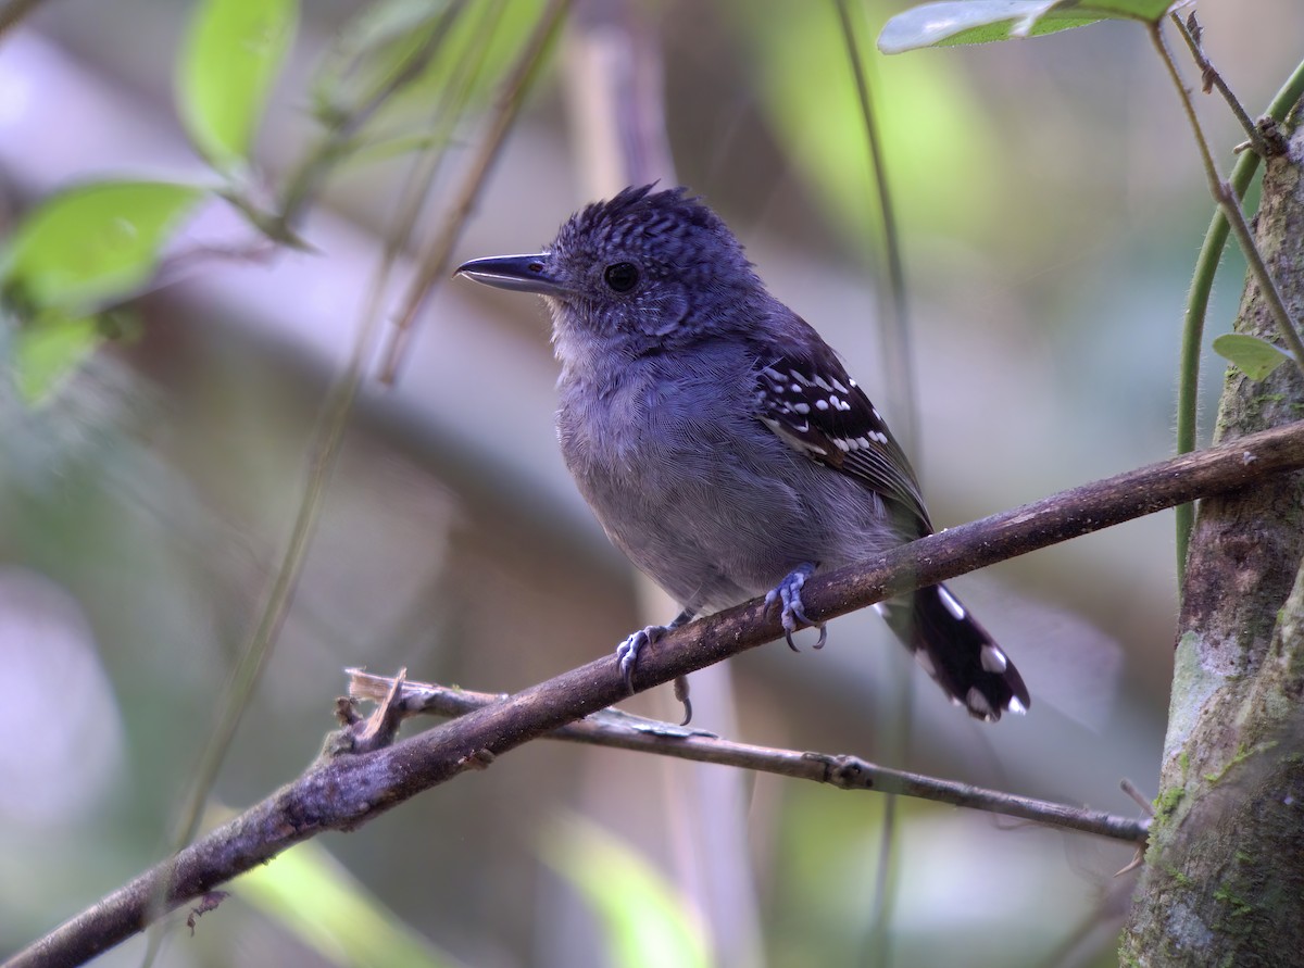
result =
M233 894L338 965L455 968L319 844L308 841L244 874Z

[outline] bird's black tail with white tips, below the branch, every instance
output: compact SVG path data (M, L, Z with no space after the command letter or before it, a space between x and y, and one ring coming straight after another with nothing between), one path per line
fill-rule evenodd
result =
M944 584L878 607L892 631L957 706L995 723L1031 706L1024 677Z

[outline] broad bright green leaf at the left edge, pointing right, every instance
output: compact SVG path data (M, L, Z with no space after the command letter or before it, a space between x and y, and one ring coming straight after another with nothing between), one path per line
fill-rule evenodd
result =
M50 196L0 253L0 291L20 308L73 314L125 296L202 194L168 181L96 181Z

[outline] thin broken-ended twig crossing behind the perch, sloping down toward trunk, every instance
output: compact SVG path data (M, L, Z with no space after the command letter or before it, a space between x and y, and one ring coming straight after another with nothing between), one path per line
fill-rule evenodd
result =
M363 669L346 669L346 672L349 677L349 695L368 702L383 703L399 681ZM462 716L503 699L506 697L501 694L471 693L428 682L403 681L402 693L396 702L403 716ZM829 783L841 789L876 791L893 796L918 797L938 804L986 810L1136 844L1145 843L1146 838L1148 824L1140 819L1020 797L902 770L889 770L859 757L801 753L773 746L733 742L700 729L631 716L618 710L595 712L575 723L567 723L542 738L653 753L675 759L691 759L698 763L737 766L776 776Z

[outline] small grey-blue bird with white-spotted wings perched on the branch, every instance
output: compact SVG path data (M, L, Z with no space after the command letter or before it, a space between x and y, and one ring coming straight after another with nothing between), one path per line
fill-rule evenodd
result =
M455 274L544 297L565 463L610 540L682 608L617 648L629 691L668 630L760 595L790 647L810 626L823 646L805 583L932 534L878 408L689 189L625 188L542 252ZM1030 707L1015 664L944 584L876 608L974 718Z

